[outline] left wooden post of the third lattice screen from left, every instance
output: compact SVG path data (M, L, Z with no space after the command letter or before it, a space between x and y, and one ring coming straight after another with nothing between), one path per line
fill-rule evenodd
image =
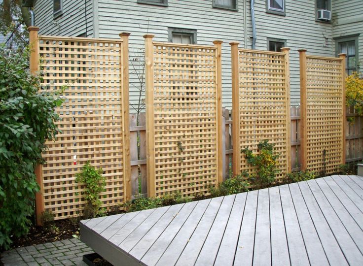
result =
M232 170L233 175L241 173L240 162L240 101L239 101L239 63L238 63L238 44L239 42L230 42L232 57Z

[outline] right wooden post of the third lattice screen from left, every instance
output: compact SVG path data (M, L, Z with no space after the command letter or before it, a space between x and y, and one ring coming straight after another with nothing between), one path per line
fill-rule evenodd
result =
M290 116L290 48L281 48L281 52L285 54L285 88L286 88L286 143L287 143L287 169L286 172L291 172L291 116Z

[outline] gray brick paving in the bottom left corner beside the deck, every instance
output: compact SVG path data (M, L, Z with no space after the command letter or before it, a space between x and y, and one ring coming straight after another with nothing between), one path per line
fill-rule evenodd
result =
M11 249L1 253L4 266L87 266L82 256L93 253L78 238Z

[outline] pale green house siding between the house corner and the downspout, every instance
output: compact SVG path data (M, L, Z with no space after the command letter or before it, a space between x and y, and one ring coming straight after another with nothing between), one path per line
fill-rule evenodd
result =
M117 38L120 32L130 32L130 59L138 70L143 61L143 35L155 34L154 41L169 41L168 27L197 30L197 43L212 45L220 39L222 44L223 104L232 105L231 95L231 40L243 43L243 1L239 11L212 7L212 0L168 0L168 6L140 4L137 0L99 0L99 37ZM138 70L139 71L139 70ZM138 75L130 64L130 101L138 102ZM139 71L141 76L142 71ZM145 98L142 96L142 98ZM131 107L130 112L135 112Z

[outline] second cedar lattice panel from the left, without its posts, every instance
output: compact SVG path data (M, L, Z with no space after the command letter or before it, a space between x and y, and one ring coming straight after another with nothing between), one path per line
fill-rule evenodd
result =
M154 44L156 196L217 183L215 47Z

